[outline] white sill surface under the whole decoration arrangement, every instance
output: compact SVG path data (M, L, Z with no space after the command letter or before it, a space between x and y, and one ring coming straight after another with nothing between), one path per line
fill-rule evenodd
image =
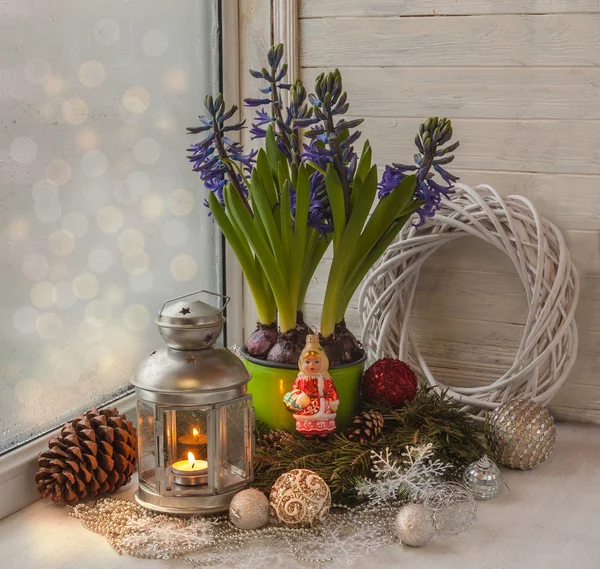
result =
M469 532L439 536L424 549L381 549L357 567L597 569L600 429L561 424L556 450L546 464L532 472L502 472L502 493L479 503ZM135 488L133 481L117 495L131 499ZM68 516L65 507L46 500L0 522L0 549L0 569L181 567L176 561L119 556L103 537Z

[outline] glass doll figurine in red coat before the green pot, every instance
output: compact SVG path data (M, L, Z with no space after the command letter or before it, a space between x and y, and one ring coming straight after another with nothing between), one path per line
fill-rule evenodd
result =
M283 402L296 419L296 430L305 437L324 437L335 431L335 414L340 404L329 360L319 336L308 335L298 360L300 372Z

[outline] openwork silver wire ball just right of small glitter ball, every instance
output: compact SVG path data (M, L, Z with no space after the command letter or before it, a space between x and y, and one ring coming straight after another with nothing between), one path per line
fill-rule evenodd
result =
M457 482L436 484L425 496L425 506L433 512L436 531L446 535L467 531L477 515L473 494Z

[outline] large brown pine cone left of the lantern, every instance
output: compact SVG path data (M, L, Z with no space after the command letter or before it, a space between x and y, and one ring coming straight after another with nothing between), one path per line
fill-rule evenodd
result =
M38 456L38 490L56 504L114 492L131 480L137 462L135 428L117 409L92 409L66 423Z

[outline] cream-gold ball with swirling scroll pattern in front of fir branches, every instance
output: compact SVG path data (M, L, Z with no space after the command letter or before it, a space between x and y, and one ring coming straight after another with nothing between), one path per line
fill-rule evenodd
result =
M288 527L322 522L331 507L331 492L312 470L298 468L282 474L271 490L271 516Z

